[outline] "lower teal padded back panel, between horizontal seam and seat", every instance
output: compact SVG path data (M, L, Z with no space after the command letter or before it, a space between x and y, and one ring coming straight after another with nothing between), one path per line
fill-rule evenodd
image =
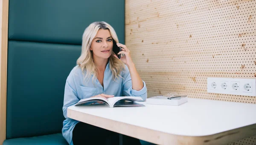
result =
M60 132L64 86L81 46L8 45L6 139Z

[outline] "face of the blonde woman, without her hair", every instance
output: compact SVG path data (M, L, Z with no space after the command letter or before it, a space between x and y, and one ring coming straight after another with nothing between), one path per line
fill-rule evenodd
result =
M90 46L93 58L108 59L112 54L113 42L109 30L99 29Z

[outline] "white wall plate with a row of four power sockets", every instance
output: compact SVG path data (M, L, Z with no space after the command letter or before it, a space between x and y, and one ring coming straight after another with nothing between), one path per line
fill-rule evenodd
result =
M216 85L212 85L212 84L216 84ZM207 78L207 92L255 97L256 96L256 79L254 78Z

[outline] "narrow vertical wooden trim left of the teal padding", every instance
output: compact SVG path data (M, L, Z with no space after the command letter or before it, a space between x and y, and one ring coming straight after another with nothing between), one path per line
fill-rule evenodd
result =
M1 26L1 72L0 72L0 145L6 139L6 89L7 89L7 49L8 49L8 13L9 0L0 0L2 11Z

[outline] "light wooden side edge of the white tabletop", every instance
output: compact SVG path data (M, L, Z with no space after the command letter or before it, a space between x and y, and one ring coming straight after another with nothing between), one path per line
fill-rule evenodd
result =
M256 135L256 124L247 125L244 127L232 129L230 131L224 131L206 136L183 136L168 134L166 132L143 128L128 123L122 123L116 120L79 112L70 108L67 109L67 117L110 131L114 131L119 134L142 139L147 142L152 142L157 145L221 145Z

